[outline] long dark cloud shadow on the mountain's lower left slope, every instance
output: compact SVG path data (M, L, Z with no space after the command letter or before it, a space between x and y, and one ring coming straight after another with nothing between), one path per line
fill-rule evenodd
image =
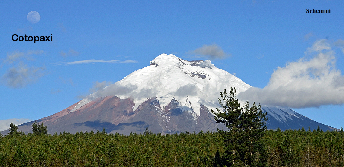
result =
M83 123L74 123L75 126L86 126L94 129L105 128L108 132L112 130L123 130L125 127L137 127L146 128L147 124L144 121L136 121L132 123L119 123L118 125L112 124L110 122L100 122L100 121L86 121Z

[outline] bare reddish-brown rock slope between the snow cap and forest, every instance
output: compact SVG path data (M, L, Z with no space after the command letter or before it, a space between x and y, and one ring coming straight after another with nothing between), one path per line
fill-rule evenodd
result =
M173 98L165 107L160 107L159 101L148 98L146 102L132 110L134 103L130 98L120 99L116 96L100 97L92 100L79 109L70 112L77 103L57 112L49 117L36 120L44 123L49 133L66 131L96 131L106 129L108 133L130 134L141 133L147 127L153 133L180 133L200 132L201 130L222 129L224 126L214 120L206 106L201 105L200 116L193 111L183 111L179 103ZM31 132L32 122L24 123L19 127L23 132Z

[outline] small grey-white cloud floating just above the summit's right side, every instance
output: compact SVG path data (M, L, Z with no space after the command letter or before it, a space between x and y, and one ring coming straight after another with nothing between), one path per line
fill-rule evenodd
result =
M226 56L230 56L230 54L225 53L223 49L216 44L203 45L202 47L191 51L191 53L202 56L209 56L210 59L222 59Z

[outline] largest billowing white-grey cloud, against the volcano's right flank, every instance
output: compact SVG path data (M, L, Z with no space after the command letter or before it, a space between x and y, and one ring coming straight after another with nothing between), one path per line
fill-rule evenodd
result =
M344 76L335 67L335 52L327 40L315 41L298 61L278 67L268 85L251 87L240 100L291 108L344 104ZM310 59L307 57L313 56Z

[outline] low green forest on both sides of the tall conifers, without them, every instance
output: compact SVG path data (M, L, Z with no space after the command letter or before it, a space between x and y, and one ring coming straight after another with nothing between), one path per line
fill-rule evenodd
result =
M343 130L267 130L260 143L268 167L344 166ZM217 166L225 151L225 139L218 132L0 135L0 167Z

